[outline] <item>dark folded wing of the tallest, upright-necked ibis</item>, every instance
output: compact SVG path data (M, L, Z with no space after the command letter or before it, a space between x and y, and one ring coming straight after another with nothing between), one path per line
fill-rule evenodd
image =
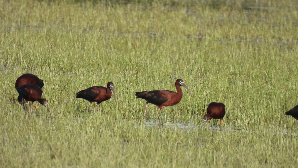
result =
M164 97L164 95L160 93L161 93L161 90L141 91L141 92L136 92L136 97L147 100L149 103L159 106L168 100L166 97Z

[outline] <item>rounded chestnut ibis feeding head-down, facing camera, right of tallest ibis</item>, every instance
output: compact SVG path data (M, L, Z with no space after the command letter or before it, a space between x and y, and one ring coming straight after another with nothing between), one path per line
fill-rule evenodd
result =
M226 106L224 103L211 102L207 107L207 114L204 115L203 120L221 119L223 121L224 115L226 114ZM220 127L221 129L221 127Z

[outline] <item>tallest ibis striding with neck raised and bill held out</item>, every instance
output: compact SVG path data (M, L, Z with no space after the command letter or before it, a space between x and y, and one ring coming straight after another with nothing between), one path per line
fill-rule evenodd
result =
M181 86L184 86L189 92L189 88L183 83L182 79L177 79L175 82L175 86L177 89L177 93L174 91L168 91L168 90L153 90L153 91L141 91L141 92L136 92L136 97L141 98L146 100L146 105L145 105L145 112L143 117L146 116L146 109L147 109L147 104L155 104L156 106L159 107L159 116L160 112L162 110L163 106L173 106L177 103L180 102L182 98L182 90ZM191 97L193 97L193 94L191 94ZM159 117L159 124L160 124L160 117Z

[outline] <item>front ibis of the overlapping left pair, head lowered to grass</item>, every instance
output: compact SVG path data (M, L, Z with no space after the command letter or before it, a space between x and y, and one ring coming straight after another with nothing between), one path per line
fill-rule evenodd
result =
M34 85L34 84L21 85L17 87L16 90L21 95L21 97L23 97L26 100L27 111L30 115L31 115L32 104L35 101L38 101L41 105L45 106L48 109L49 114L51 113L48 106L48 102L46 101L46 99L41 98L42 90L38 85ZM29 101L32 102L30 109L29 109Z

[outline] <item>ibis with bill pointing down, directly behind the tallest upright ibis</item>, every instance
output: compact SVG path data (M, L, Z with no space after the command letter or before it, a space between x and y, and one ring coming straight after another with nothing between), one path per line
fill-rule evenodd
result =
M88 100L90 102L90 105L88 107L88 111L90 111L90 107L91 107L92 102L97 102L96 107L95 107L95 110L96 110L97 106L101 102L103 102L105 100L109 100L111 98L112 91L114 93L116 103L117 103L117 97L116 97L116 93L115 93L115 90L114 90L114 84L112 82L108 82L106 88L103 87L103 86L92 86L92 87L87 88L85 90L81 90L81 91L77 92L76 98L82 98L82 99Z

